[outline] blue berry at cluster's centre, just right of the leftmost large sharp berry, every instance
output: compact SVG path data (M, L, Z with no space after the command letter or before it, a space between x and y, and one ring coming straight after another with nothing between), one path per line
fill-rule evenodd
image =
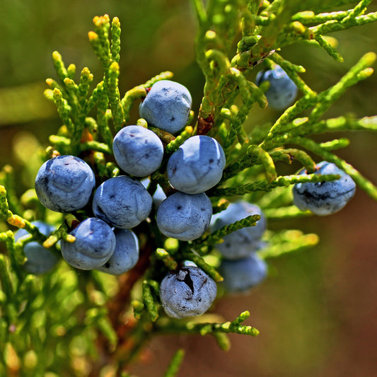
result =
M145 187L127 175L105 180L93 197L94 216L115 228L134 228L152 208L152 197Z

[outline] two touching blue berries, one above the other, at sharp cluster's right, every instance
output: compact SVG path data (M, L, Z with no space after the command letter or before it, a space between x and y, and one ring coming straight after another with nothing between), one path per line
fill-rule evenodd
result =
M195 240L211 222L212 204L204 193L220 180L225 167L221 145L208 136L187 139L168 159L170 185L178 192L158 207L161 233L178 240Z

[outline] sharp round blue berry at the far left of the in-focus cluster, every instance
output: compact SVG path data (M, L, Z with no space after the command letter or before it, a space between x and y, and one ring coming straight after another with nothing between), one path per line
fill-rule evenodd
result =
M93 170L76 156L57 156L43 163L35 178L35 192L48 209L69 212L88 204L95 187Z

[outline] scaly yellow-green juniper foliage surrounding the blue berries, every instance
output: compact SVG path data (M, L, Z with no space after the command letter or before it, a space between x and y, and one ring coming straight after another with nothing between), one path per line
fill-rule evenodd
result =
M376 186L334 153L349 144L347 139L324 143L312 139L315 134L339 130L376 131L377 116L323 118L347 89L373 73L376 54L364 54L340 81L320 93L301 79L303 66L278 54L283 47L306 42L342 62L327 34L376 21L376 13L366 13L370 2L360 1L350 10L333 11L335 6L349 1L209 0L204 6L201 0L193 0L197 16L195 52L205 77L203 98L181 134L173 136L153 129L163 141L166 155L161 168L151 175L150 192L156 190L157 184L169 190L166 161L185 139L192 134L209 134L224 146L228 161L221 182L208 192L214 212L245 196L262 207L267 219L310 215L292 205L290 186L296 182L337 180L339 176L280 175L276 163L298 161L313 173L315 156L335 163L377 199ZM88 39L103 66L98 83L87 67L76 79L76 66L66 66L59 52L52 54L57 81L47 79L45 97L56 105L62 127L50 135L43 159L59 154L81 156L90 161L98 180L103 181L120 173L111 158L115 132L129 124L132 108L146 96L146 90L156 81L171 79L173 74L162 72L122 94L120 20L115 17L110 21L105 15L95 17L93 24ZM301 95L271 127L253 124L249 130L244 125L250 109L254 105L262 109L267 106L267 86L257 87L249 79L250 71L259 64L282 66ZM144 120L135 122L146 125ZM1 375L45 376L51 372L58 376L98 376L110 367L122 376L152 335L212 335L225 350L230 345L228 333L259 333L255 327L242 325L250 316L248 311L231 322L213 314L189 320L168 318L161 309L158 290L163 276L185 260L192 260L221 282L216 270L219 256L213 245L228 233L254 226L260 216L248 216L193 242L182 242L163 238L151 214L151 221L144 221L137 228L141 258L122 277L79 271L64 262L54 272L37 277L23 268L23 246L35 240L60 255L58 241L73 242L69 228L88 213L81 210L65 216L51 214L37 202L33 189L19 199L16 186L13 170L5 166L0 173L0 240L7 249L6 254L0 255L0 347L4 349L0 353ZM43 236L31 224L34 219L47 221L57 229ZM30 237L15 242L16 228L25 228ZM267 231L264 241L267 246L260 256L268 260L313 246L318 243L318 236L281 229ZM178 350L165 376L178 373L183 356L184 352Z

